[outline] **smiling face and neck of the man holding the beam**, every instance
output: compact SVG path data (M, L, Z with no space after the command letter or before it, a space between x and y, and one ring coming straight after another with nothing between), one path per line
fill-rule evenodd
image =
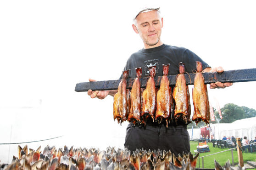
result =
M133 25L134 31L144 42L145 48L160 46L161 29L163 19L160 18L158 11L149 11L140 13L136 18L136 25Z

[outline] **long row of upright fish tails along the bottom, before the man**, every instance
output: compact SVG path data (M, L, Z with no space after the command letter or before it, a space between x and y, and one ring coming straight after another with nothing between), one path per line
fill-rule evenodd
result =
M160 149L154 151L136 149L131 154L128 149L115 150L111 147L106 151L100 151L94 148L73 149L73 147L68 150L65 146L63 151L59 149L56 152L55 147L47 146L43 153L40 147L34 151L40 157L32 161L32 152L26 153L27 145L19 149L18 157L13 156L11 164L4 170L195 170L199 156L199 154L194 157L191 153L183 153L176 157L170 150Z

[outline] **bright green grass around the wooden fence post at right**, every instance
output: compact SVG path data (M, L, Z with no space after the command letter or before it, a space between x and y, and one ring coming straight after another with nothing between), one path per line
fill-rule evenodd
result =
M214 148L212 146L212 143L207 143L210 149L210 152L205 152L205 153L200 153L200 157L202 156L206 156L209 154L214 154L220 151L224 151L227 150L228 148L224 148L224 149L220 149L220 148ZM198 145L198 142L195 141L190 141L190 151L193 154L196 154L194 152L194 150L196 150L196 146ZM233 150L233 156L234 156L234 165L237 166L238 165L238 154L237 151L234 149ZM207 156L204 157L204 168L205 169L214 169L214 159L220 164L220 165L224 165L228 159L230 160L230 164L232 166L232 154L231 154L231 150L226 151L226 152L222 152L219 154L214 154L211 156ZM256 161L256 152L252 152L252 153L243 153L243 159L244 159L244 163L246 163L247 161ZM200 168L202 168L202 159L200 159ZM197 159L197 164L196 164L196 168L199 168L199 159ZM251 169L252 170L252 169ZM256 169L254 169L256 170Z

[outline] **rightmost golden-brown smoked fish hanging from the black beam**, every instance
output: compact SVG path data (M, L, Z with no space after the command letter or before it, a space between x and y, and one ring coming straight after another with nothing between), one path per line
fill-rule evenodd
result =
M209 99L207 93L207 87L205 85L205 80L202 75L202 63L196 61L197 73L195 74L195 83L192 90L192 98L194 104L194 114L192 121L195 121L196 124L201 120L206 122L206 125L209 124L210 120L210 107Z

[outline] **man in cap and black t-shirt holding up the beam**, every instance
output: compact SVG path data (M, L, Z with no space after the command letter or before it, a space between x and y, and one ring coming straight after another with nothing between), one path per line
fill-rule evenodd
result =
M159 8L145 8L134 17L132 25L134 32L139 34L144 43L144 48L133 53L126 63L124 69L130 69L129 76L136 77L135 68L141 67L142 77L149 74L148 67L156 65L156 76L162 76L162 64L170 64L168 75L178 74L178 63L185 63L185 71L192 73L196 69L195 61L200 61L204 72L223 72L222 67L213 68L206 64L195 53L186 48L169 46L161 42L161 29L163 18L160 16ZM89 79L89 81L95 81ZM210 88L225 88L232 83L212 83ZM117 90L88 91L91 98L104 99L107 95L114 96ZM161 124L148 120L146 126L128 125L124 146L132 151L135 149L165 149L171 150L176 156L178 153L190 151L189 134L187 125L184 123L171 122L166 128L166 122Z

